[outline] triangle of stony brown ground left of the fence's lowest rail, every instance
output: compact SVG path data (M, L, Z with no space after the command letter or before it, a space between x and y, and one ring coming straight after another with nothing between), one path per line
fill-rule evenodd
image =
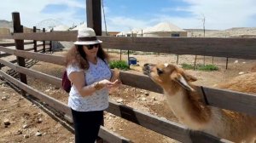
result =
M2 83L0 91L1 143L73 142L73 134L61 123L7 84Z

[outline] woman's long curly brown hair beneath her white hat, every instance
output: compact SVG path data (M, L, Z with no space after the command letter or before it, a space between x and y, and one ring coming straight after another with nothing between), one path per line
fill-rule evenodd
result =
M108 61L108 54L102 49L102 45L99 44L97 57L101 58L104 62ZM74 45L68 50L66 54L65 66L70 64L77 64L81 69L88 70L89 63L86 60L86 54L83 49L83 45Z

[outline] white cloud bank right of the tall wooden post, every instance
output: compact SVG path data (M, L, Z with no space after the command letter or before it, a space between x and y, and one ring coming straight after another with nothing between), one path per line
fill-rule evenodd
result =
M177 11L190 13L190 17L172 16L168 14L152 14L148 19L129 17L111 17L109 27L129 30L127 27L147 27L161 21L170 21L181 28L203 28L202 19L205 18L207 29L224 30L231 27L255 26L256 1L255 0L183 0L189 3L186 7L163 8L161 12ZM254 17L253 17L254 16Z

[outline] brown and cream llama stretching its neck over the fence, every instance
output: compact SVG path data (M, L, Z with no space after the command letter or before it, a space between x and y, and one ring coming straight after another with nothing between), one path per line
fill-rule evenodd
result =
M164 89L168 106L189 129L204 131L234 142L253 143L256 139L256 117L207 106L196 91L195 85L191 83L196 81L196 78L182 68L171 64L145 64L143 72ZM242 76L222 87L256 93L256 72L247 77Z

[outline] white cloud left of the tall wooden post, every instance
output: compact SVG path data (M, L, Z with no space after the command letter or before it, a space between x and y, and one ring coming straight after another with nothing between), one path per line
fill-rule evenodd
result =
M49 4L66 4L68 10L57 14L42 14L41 11ZM0 5L0 18L3 20L12 20L12 12L20 13L20 22L24 26L32 27L38 22L47 19L61 20L61 23L72 25L79 23L81 20L73 18L75 10L78 8L85 9L84 4L78 3L74 0L9 0Z

